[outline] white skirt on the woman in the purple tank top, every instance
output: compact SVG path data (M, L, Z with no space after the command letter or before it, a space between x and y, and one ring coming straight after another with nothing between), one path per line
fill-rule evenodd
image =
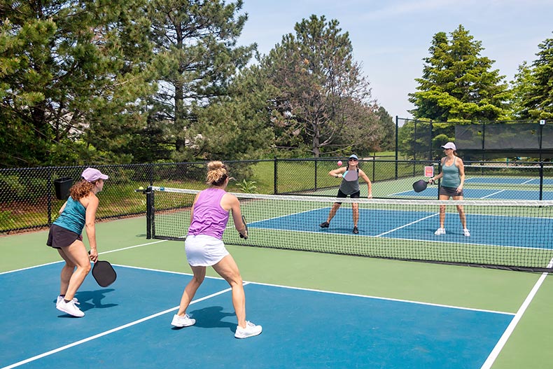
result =
M188 235L184 246L188 264L193 267L211 267L229 254L221 239L207 235Z

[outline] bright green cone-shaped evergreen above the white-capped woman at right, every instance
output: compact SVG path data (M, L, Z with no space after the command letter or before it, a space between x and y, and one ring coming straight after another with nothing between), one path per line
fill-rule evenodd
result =
M462 25L451 32L434 35L424 59L422 78L416 78L417 92L409 94L415 118L430 120L497 120L507 114L510 94L491 70L493 60L480 56L481 41L475 41Z

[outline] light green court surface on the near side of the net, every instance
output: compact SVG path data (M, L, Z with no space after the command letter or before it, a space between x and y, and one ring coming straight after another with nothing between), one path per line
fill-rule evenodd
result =
M0 237L0 272L59 261L57 253L45 246L47 235L48 231L42 230ZM146 239L144 217L97 223L97 242L100 258L115 265L190 272L183 242ZM491 368L551 368L553 363L550 276L245 246L228 246L228 250L244 281L517 314L510 326L512 333L504 334L503 342L496 346L500 350ZM207 273L217 277L211 268ZM57 288L52 286L52 291ZM180 297L167 296L174 305ZM334 314L339 320L348 312Z

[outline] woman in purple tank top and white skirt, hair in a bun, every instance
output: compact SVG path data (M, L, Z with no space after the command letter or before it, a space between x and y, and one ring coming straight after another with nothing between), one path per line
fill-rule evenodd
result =
M179 312L173 316L171 324L181 328L196 323L195 319L186 314L186 309L204 281L206 267L211 266L232 287L232 305L238 319L235 337L252 337L260 334L262 327L246 321L246 296L242 277L235 259L225 249L222 241L229 211L232 210L236 230L247 237L246 225L242 222L237 197L225 191L230 179L227 167L220 161L213 161L209 162L207 169L209 188L198 193L194 199L190 228L185 241L186 258L194 275L184 288Z

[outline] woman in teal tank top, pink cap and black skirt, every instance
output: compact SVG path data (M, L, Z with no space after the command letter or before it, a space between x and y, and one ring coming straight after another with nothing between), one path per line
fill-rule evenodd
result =
M46 244L57 249L59 256L65 260L60 276L59 296L56 308L73 316L84 316L76 305L75 294L90 272L90 261L98 259L96 247L96 210L98 197L96 194L104 188L104 179L108 176L98 169L87 168L81 174L82 179L75 183L71 194L62 208L59 217L50 227ZM83 243L83 228L86 229L90 255Z

